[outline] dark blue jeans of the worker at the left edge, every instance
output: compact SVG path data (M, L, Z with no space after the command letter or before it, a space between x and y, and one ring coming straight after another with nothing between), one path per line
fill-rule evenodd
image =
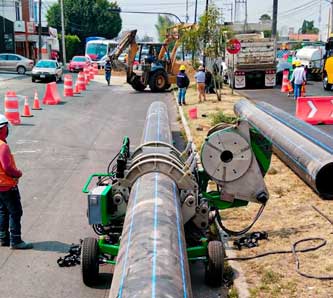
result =
M23 214L18 187L0 191L0 241L15 245L21 239L21 217Z

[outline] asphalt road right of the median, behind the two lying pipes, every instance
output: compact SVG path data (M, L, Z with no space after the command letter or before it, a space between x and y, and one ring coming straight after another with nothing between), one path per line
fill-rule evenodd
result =
M292 115L295 114L295 101L286 93L280 92L280 86L274 89L237 90L238 93L254 101L264 101ZM332 91L325 91L321 82L308 82L306 96L333 96ZM333 135L333 125L319 125L318 128Z

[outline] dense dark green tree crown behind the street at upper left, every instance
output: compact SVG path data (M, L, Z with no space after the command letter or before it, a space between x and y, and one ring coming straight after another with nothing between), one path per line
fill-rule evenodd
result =
M116 2L108 0L64 0L65 32L77 35L81 41L88 36L101 36L112 39L121 30L119 13L108 9L117 9ZM60 32L60 6L53 4L47 11L46 19L51 27Z

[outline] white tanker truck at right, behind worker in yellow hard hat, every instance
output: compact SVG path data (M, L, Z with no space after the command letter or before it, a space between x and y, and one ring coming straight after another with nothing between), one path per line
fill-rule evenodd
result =
M325 46L306 46L297 50L296 60L307 68L312 79L321 80L325 53Z

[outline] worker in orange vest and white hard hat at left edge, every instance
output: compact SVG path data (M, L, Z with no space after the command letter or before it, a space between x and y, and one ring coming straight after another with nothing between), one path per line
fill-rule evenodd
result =
M7 145L8 120L0 114L0 246L12 249L30 249L31 243L21 238L23 214L20 192L17 187L22 172L16 168L15 160Z

